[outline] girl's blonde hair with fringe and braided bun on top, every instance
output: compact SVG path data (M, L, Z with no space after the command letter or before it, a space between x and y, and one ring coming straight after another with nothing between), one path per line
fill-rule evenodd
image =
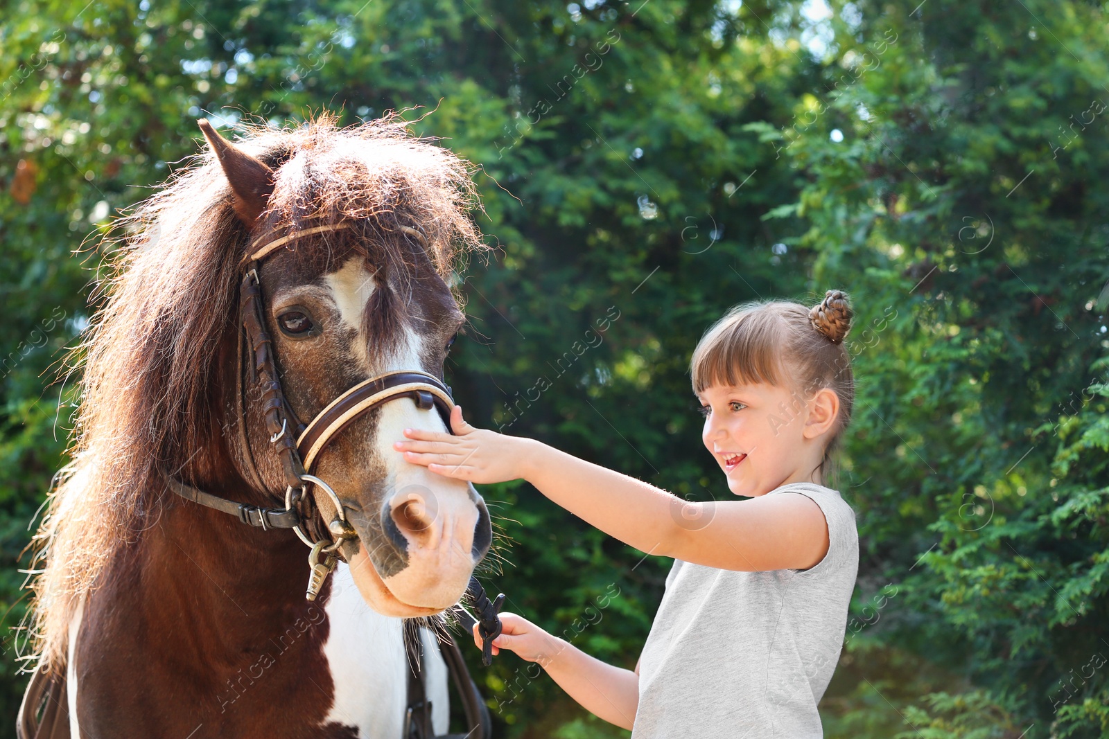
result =
M813 471L823 469L834 478L835 454L855 402L855 377L844 345L853 316L843 290L828 290L811 308L793 300L740 304L713 324L693 350L693 392L714 384L786 388L793 392L792 415L817 390L832 389L840 397L840 413L824 447L824 459Z

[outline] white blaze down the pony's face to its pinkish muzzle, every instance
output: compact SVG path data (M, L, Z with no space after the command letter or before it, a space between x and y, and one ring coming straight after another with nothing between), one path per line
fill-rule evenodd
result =
M365 268L360 258L352 258L342 269L328 275L326 283L344 325L358 333L354 358L363 365L367 377L423 368L423 341L404 324L404 333L394 343L393 351L387 356L370 356L374 342L365 336L362 317L375 286L373 273ZM405 438L405 429L446 431L438 411L419 409L408 398L387 402L380 409L373 448L366 450L367 455L385 463L383 503L391 501L394 509L407 503L411 514L408 520L417 522L415 527L404 531L408 542L408 566L386 578L384 584L393 597L407 606L447 608L461 597L474 568L477 505L470 499L468 483L410 464L393 448L394 442ZM372 511L366 513L376 515ZM360 573L362 568L356 567L356 579Z

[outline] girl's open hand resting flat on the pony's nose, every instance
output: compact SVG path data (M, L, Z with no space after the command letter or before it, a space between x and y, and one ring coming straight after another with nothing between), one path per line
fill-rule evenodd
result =
M431 472L479 484L508 482L523 476L525 445L529 440L475 429L462 420L462 409L450 411L451 435L425 429L405 429L410 441L394 442L405 461L423 464Z

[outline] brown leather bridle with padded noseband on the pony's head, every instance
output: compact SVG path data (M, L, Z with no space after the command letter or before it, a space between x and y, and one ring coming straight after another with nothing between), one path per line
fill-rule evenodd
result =
M401 398L410 398L420 409L435 408L442 415L450 431L450 409L455 402L448 388L439 378L423 370L397 370L369 378L340 393L307 425L301 423L288 404L274 361L273 341L265 329L263 318L262 285L258 268L262 261L278 248L298 238L350 228L349 223L315 226L294 232L281 238L252 248L240 263L243 278L240 283L238 369L236 381L237 423L242 458L254 478L260 491L266 486L262 482L246 435L246 410L243 401L243 346L250 351L251 379L262 390L262 413L269 443L282 463L285 482L285 507L265 509L206 493L202 490L166 475L170 490L195 503L230 513L245 524L268 528L292 528L306 545L312 547L308 564L312 568L306 597L314 601L327 575L335 568L338 558L348 561L357 551L358 535L346 520L343 503L325 481L312 474L319 454L327 445L359 417L380 408L385 403ZM400 229L420 240L427 240L415 228ZM326 494L328 507L334 507L330 519L324 525L324 514L309 487L317 487ZM344 552L344 548L346 550Z

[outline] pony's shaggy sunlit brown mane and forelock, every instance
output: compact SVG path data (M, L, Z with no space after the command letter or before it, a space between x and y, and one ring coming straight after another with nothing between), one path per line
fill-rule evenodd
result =
M278 228L357 220L358 240L378 244L362 248L380 249L405 238L398 226L414 227L450 284L456 258L484 248L468 215L480 207L474 168L407 125L390 116L339 129L323 115L296 129L247 127L235 145L275 171L269 208ZM71 462L32 540L31 568L41 574L22 657L44 671L64 668L80 598L122 546L156 523L160 468L202 449L217 412L215 350L236 329L247 230L215 155L205 148L193 165L115 223L105 239L111 276L92 298L100 307L69 362L83 369L81 403ZM326 242L305 238L296 248Z

